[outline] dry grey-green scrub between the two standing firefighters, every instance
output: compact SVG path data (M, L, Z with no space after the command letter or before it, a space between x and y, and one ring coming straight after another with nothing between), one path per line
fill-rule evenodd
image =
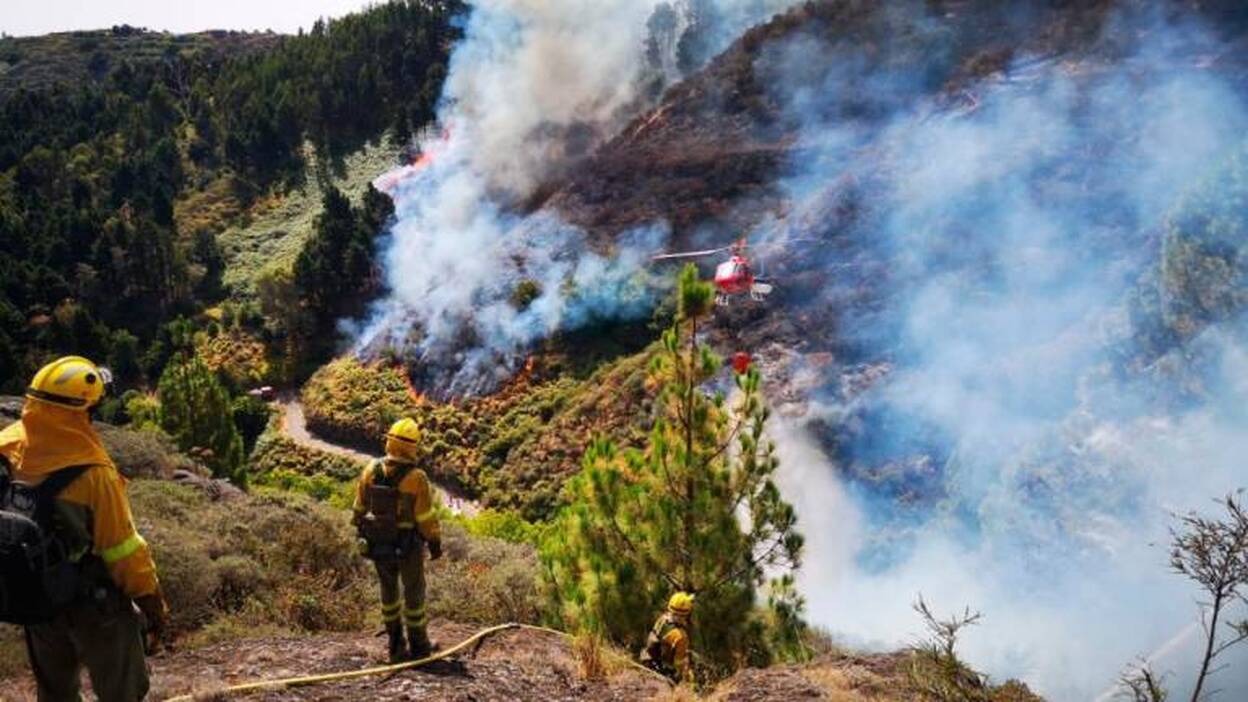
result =
M131 486L175 633L225 615L296 631L351 631L376 608L371 568L356 556L342 511L265 490L210 502L181 485Z

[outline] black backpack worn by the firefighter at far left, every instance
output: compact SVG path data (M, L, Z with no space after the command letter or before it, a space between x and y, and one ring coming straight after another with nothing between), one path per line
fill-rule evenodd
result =
M80 595L81 566L52 527L56 496L91 466L61 468L35 487L0 457L0 622L51 621Z

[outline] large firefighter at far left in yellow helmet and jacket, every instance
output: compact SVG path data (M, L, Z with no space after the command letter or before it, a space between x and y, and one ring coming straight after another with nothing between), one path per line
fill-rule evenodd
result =
M106 370L80 356L54 361L26 390L21 418L0 431L0 467L7 463L11 480L35 491L56 486L47 491L47 528L72 565L45 585L64 590L51 618L26 626L40 701L79 700L84 666L101 701L142 700L144 647L158 646L168 617L156 566L135 530L126 481L89 416L109 380Z

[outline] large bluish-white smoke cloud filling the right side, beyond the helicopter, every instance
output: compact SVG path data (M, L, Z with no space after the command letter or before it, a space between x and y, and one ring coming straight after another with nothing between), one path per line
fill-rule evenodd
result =
M917 593L948 612L968 605L985 620L966 633L967 660L1055 701L1094 698L1158 650L1176 697L1189 690L1197 593L1168 572L1167 528L1248 486L1244 320L1146 367L1124 361L1146 356L1131 305L1161 285L1148 271L1163 267L1167 217L1244 147L1248 102L1208 70L1212 32L1152 15L1123 25L1141 37L1127 56L1020 56L952 109L890 104L917 79L852 50L795 41L766 59L811 145L795 197L860 166L879 181L871 212L840 235L887 262L887 291L882 310L845 311L844 327L896 367L811 411L862 427L835 450L824 427L779 435L812 618L889 648L922 633ZM792 90L810 76L816 90ZM827 117L864 85L896 110L867 156L866 127ZM855 262L837 256L825 270ZM920 455L930 461L905 475ZM905 506L905 490L929 502ZM1248 698L1237 663L1218 677L1228 700Z

